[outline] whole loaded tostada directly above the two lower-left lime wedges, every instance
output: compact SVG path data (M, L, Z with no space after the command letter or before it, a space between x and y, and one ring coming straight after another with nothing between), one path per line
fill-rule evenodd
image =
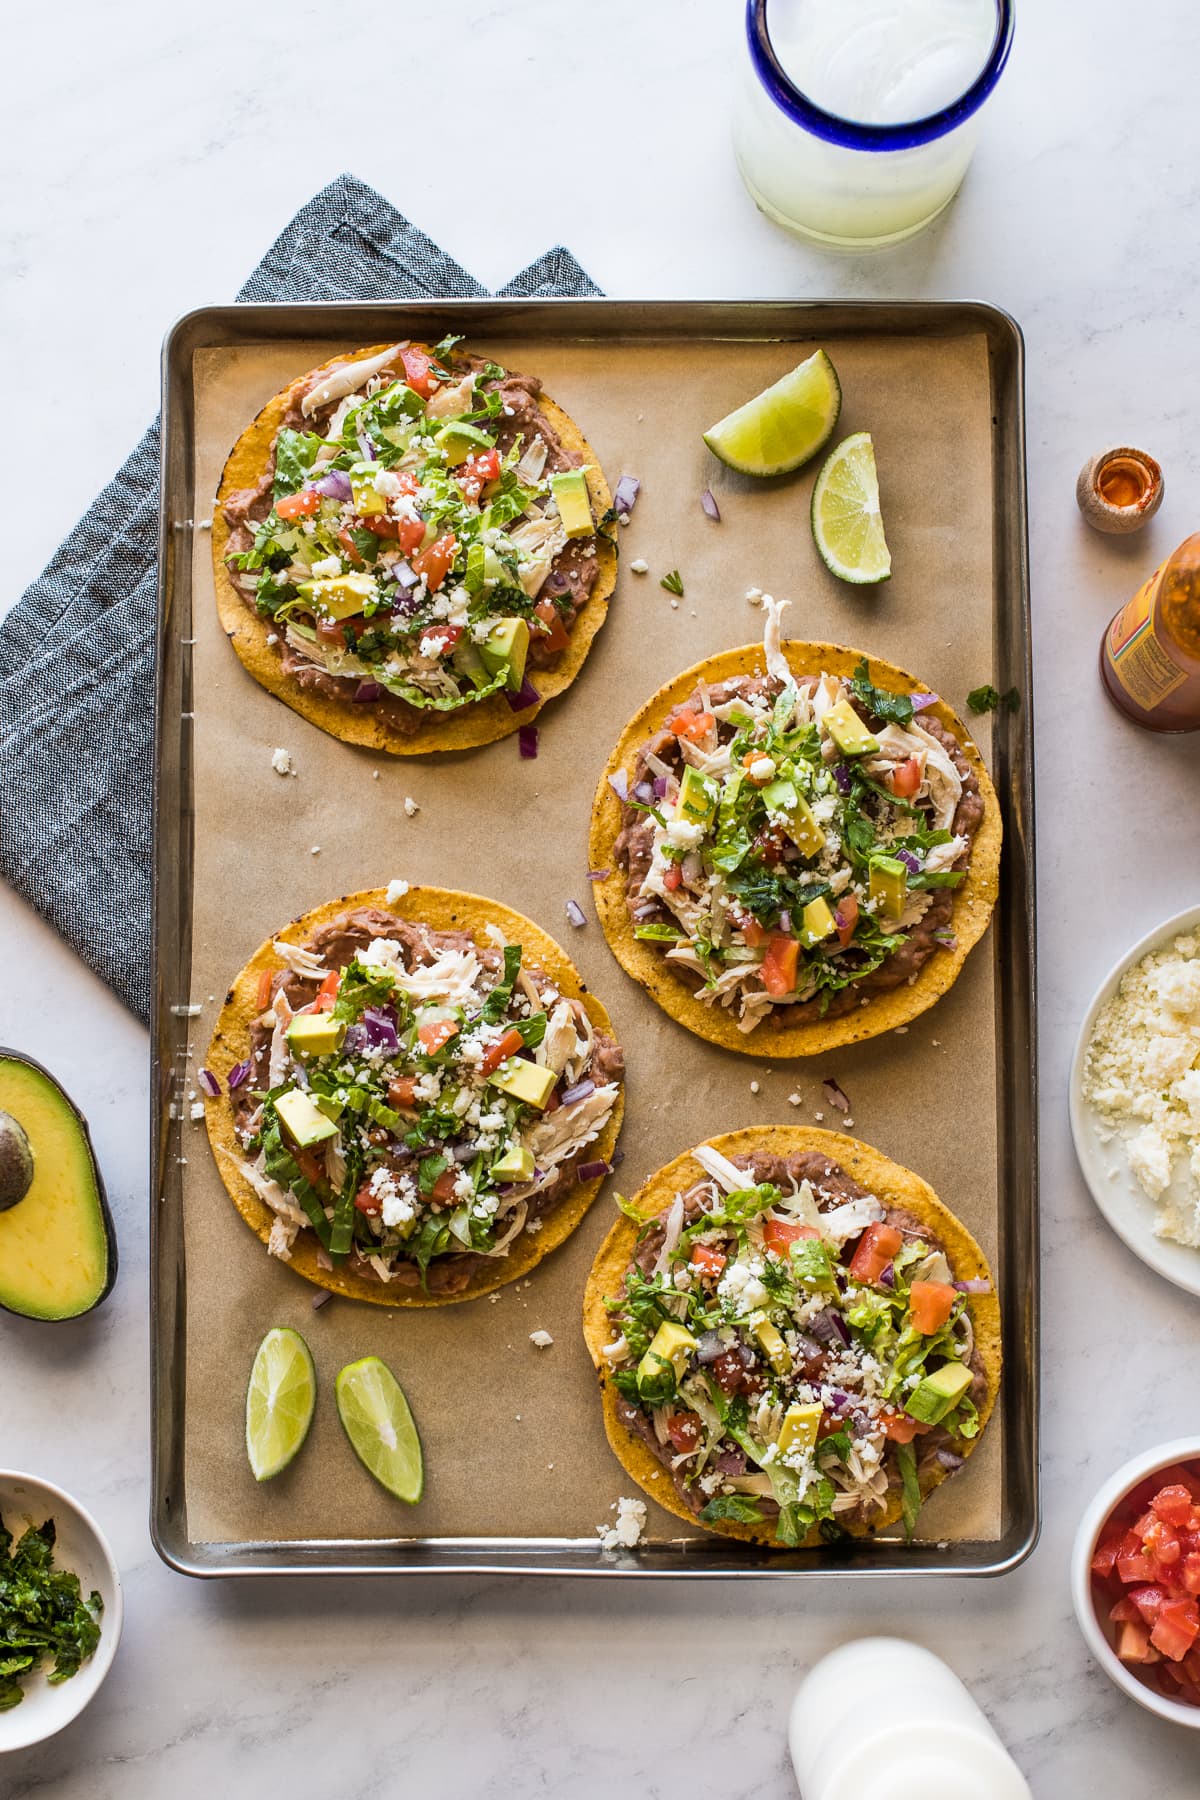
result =
M201 1085L221 1181L272 1255L338 1294L439 1305L574 1231L610 1170L624 1058L527 918L399 889L255 950Z

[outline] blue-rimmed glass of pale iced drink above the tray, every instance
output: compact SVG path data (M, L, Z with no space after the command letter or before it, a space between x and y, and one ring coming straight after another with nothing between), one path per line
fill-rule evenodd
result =
M779 225L876 248L950 203L1013 43L1013 0L747 0L738 167Z

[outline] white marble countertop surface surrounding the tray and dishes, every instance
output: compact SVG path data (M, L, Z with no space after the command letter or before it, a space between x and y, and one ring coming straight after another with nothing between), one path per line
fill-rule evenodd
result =
M389 106L369 99L335 14L308 0L25 7L9 22L5 414L41 477L0 491L0 610L140 436L169 320L230 299L297 205L342 169L489 284L565 241L619 295L970 295L1016 315L1029 349L1038 704L1045 1526L1031 1561L993 1582L173 1575L146 1528L146 1033L0 889L0 1040L50 1062L86 1107L122 1244L119 1287L95 1318L58 1330L0 1321L0 1463L79 1494L126 1579L108 1685L58 1739L4 1760L7 1800L268 1789L784 1800L799 1676L833 1643L891 1629L972 1683L1038 1800L1195 1795L1195 1735L1108 1685L1067 1593L1085 1501L1133 1451L1195 1429L1200 1377L1196 1301L1101 1222L1065 1111L1092 988L1132 940L1198 898L1186 828L1200 738L1126 725L1094 661L1117 603L1198 524L1182 374L1195 362L1200 117L1180 104L1178 72L1200 56L1200 18L1148 7L1132 32L1119 0L1087 13L1081 31L1072 0L1020 9L959 202L916 243L851 259L790 241L741 193L727 146L736 0L694 0L685 25L680 7L644 0L392 11ZM354 41L369 61L380 36ZM587 126L576 153L549 157L504 212L488 187L489 110L471 103L452 121L444 106L461 67L475 95L536 90L543 131L551 115L567 131ZM313 103L326 85L329 104ZM1126 544L1090 535L1074 506L1081 461L1112 441L1144 443L1168 472L1162 511ZM1182 828L1164 830L1171 819Z

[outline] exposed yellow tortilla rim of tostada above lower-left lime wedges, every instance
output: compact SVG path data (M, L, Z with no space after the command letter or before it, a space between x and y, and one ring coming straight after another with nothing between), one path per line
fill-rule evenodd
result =
M290 925L284 925L282 931L277 931L273 938L268 938L266 943L261 943L241 974L234 977L234 985L225 995L225 1004L221 1006L212 1042L209 1044L207 1067L212 1069L221 1084L221 1093L216 1100L205 1098L209 1143L212 1145L216 1166L225 1188L228 1190L228 1197L263 1244L266 1244L270 1237L275 1215L270 1206L257 1197L250 1183L237 1168L237 1163L245 1161L245 1150L234 1130L234 1107L228 1096L228 1071L246 1055L250 1024L261 1012L257 1004L259 977L264 968L275 970L281 967L279 956L273 949L275 940L279 938L284 943L304 943L311 938L318 925L327 925L331 920L338 918L338 914L351 913L358 907L380 907L381 911L394 913L398 918L430 925L432 931L470 931L479 945L488 943L484 927L498 925L509 943L522 945L525 952L525 967L542 968L558 985L561 994L569 999L583 1001L588 1019L596 1030L615 1039L608 1013L596 995L587 992L576 965L565 950L561 950L545 931L534 925L533 920L524 918L520 913L513 913L506 905L498 905L495 900L484 900L479 895L457 893L450 887L410 887L401 900L389 905L385 887L369 887L363 893L344 895L340 900L329 900L326 905L318 905L311 913L302 913L299 918L291 920ZM621 1084L617 1103L608 1123L604 1125L604 1130L587 1147L587 1161L612 1161L612 1152L621 1130L622 1111L624 1084ZM369 1300L378 1307L446 1307L459 1300L475 1300L479 1294L489 1294L493 1289L504 1287L507 1282L520 1280L520 1276L527 1274L536 1264L542 1262L543 1256L547 1256L552 1249L558 1249L558 1246L563 1244L576 1229L599 1193L601 1181L603 1177L597 1181L578 1183L578 1186L543 1217L540 1231L522 1231L511 1246L507 1256L500 1256L493 1264L484 1264L484 1267L479 1269L470 1283L457 1294L426 1294L421 1289L410 1291L385 1282L371 1282L362 1274L353 1274L349 1269L322 1269L317 1262L320 1244L311 1231L300 1231L297 1237L288 1267L295 1269L297 1274L302 1274L306 1282L329 1289L331 1294L345 1294L351 1300Z

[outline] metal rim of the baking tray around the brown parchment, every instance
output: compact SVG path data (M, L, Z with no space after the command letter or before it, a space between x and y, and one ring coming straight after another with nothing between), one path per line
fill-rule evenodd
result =
M1004 812L1000 904L991 936L995 979L999 1145L997 1271L1004 1300L1000 1530L988 1541L855 1541L820 1552L772 1552L698 1535L648 1543L619 1559L596 1537L426 1537L201 1543L189 1534L184 1471L185 1256L180 1127L171 1100L189 1057L191 1021L182 1004L191 972L193 895L193 691L191 560L194 477L194 369L198 351L326 338L371 344L444 331L597 346L617 340L705 344L820 340L833 347L873 338L982 335L991 378L993 679L1018 688L1022 706L1002 713L993 778ZM1033 1550L1038 1501L1038 1157L1034 995L1033 682L1025 517L1024 342L1016 322L981 302L824 301L556 301L479 299L394 304L277 304L203 308L167 335L162 356L162 522L155 731L155 898L151 1021L151 1537L158 1555L187 1575L291 1573L488 1573L488 1575L999 1575ZM628 578L626 578L628 580ZM750 635L748 632L745 635ZM869 635L864 632L864 635ZM730 639L738 641L738 639ZM560 702L561 706L563 702ZM569 704L569 702L567 702ZM613 702L613 738L633 697ZM446 769L453 778L453 767ZM581 824L583 830L583 824ZM250 839L250 833L248 833ZM252 842L246 842L252 855ZM468 884L470 886L470 884ZM615 963L612 983L621 983ZM203 1030L207 1031L207 1021ZM990 1030L988 1022L981 1030ZM194 1064L193 1064L194 1067ZM626 1118L626 1130L630 1120ZM669 1147L666 1154L675 1154ZM207 1150L203 1152L207 1154ZM666 1159L666 1157L664 1157ZM601 1199L599 1204L604 1204ZM246 1246L250 1253L250 1246ZM241 1381L241 1368L230 1379ZM599 1431L599 1409L596 1418Z

